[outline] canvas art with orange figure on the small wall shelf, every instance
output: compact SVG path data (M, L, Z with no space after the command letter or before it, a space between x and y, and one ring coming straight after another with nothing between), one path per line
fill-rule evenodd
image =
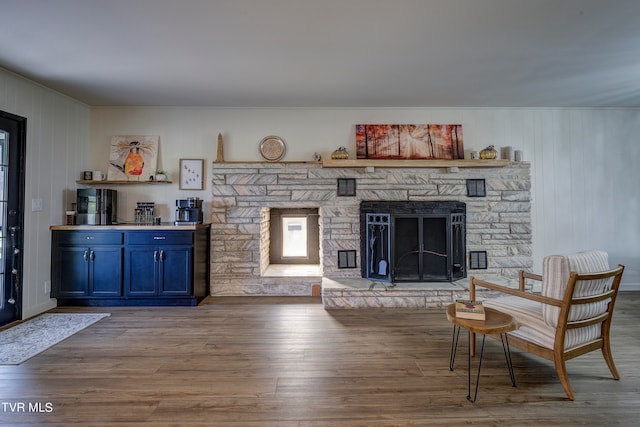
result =
M158 166L157 135L121 135L111 138L109 181L149 181Z

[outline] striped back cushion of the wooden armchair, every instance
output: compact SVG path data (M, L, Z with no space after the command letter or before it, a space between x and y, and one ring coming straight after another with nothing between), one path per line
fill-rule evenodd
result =
M571 272L598 273L609 270L609 257L603 251L586 251L570 255L551 255L544 258L542 265L542 295L563 299ZM579 280L573 296L597 295L609 289L611 279ZM574 305L569 311L569 321L588 319L607 310L608 301ZM560 307L543 304L542 314L547 325L558 327Z

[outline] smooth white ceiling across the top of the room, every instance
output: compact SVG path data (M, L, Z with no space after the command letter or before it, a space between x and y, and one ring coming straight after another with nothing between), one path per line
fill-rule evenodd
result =
M640 107L640 0L0 0L89 105Z

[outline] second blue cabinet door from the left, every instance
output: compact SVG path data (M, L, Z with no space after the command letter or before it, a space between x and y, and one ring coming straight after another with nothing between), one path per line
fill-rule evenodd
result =
M91 296L122 295L122 248L95 247L90 251L89 293Z

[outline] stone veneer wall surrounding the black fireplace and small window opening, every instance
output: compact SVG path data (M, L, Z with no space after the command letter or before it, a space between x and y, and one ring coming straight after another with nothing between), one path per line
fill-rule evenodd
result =
M355 178L356 196L337 196L337 178ZM487 197L467 197L466 180L486 179ZM516 277L533 265L530 164L490 168L323 168L319 163L213 163L211 295L311 295L320 277L268 277L270 208L318 208L322 276L338 269L338 250L360 260L362 200L467 205L467 252L486 250L489 268L467 274ZM468 256L467 256L468 263Z

